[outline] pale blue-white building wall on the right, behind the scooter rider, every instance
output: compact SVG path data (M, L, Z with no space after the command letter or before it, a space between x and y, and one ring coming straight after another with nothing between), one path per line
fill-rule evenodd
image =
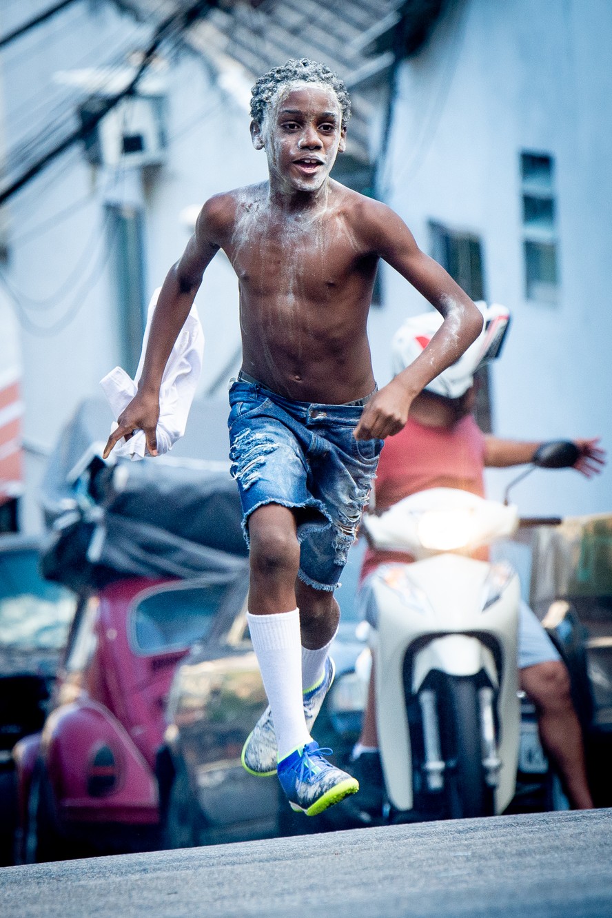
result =
M428 221L479 235L489 301L513 325L493 370L495 432L525 439L601 435L612 449L612 5L607 0L467 0L401 69L385 174L387 201L426 252ZM560 297L524 292L520 151L555 162ZM391 269L373 311L373 358L427 304ZM488 473L492 496L509 472ZM539 472L517 490L526 513L612 509L612 470L596 481Z

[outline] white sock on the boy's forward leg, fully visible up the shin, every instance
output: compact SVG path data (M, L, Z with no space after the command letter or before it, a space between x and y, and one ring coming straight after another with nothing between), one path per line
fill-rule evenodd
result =
M280 762L298 746L312 742L302 699L300 613L297 609L277 615L247 612L247 621L270 702Z

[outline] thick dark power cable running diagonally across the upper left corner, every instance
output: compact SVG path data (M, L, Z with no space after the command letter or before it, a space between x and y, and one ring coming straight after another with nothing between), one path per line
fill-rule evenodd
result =
M8 185L4 191L0 192L0 207L5 204L9 198L14 196L24 185L27 185L28 182L38 175L50 162L57 159L64 151L70 149L72 144L76 143L78 140L83 140L83 138L90 134L100 121L105 118L108 112L115 108L122 99L126 98L128 95L133 95L140 79L150 66L150 63L159 49L161 42L167 39L175 29L178 29L180 34L194 22L195 18L209 8L210 5L206 3L205 0L198 0L197 3L188 7L184 12L178 14L174 13L172 16L164 19L161 25L156 28L153 39L149 47L144 51L139 67L128 85L120 92L101 101L95 113L89 113L86 118L83 118L83 124L79 129L72 131L68 137L61 140L50 151L41 156L39 161L31 165L15 182Z

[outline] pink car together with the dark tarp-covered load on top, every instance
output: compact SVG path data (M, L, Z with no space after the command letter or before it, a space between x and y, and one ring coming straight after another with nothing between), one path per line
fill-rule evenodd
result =
M109 424L103 409L77 409L42 487L43 573L80 600L50 714L15 749L22 861L158 845L154 769L173 669L242 602L247 550L228 463L104 462L92 444ZM199 414L214 437L220 412Z

